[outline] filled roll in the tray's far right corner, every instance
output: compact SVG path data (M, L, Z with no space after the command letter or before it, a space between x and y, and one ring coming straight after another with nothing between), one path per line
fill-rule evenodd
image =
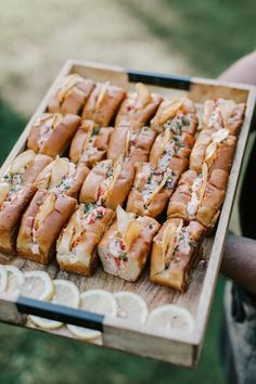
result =
M203 127L227 129L230 135L239 133L245 113L245 103L233 100L213 99L204 103Z

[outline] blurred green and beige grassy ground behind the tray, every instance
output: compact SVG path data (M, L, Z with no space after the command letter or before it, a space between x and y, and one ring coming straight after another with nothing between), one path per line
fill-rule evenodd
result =
M66 60L215 78L255 49L255 20L254 0L1 0L0 163ZM0 324L0 383L223 384L222 293L195 370Z

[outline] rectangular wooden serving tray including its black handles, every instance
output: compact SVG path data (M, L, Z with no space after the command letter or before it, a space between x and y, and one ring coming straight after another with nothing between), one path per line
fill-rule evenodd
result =
M207 263L197 266L193 273L192 283L190 284L188 292L184 294L180 294L168 287L153 285L149 281L149 270L144 271L139 282L129 283L104 273L101 268L98 269L92 278L85 278L60 271L54 261L46 267L18 257L10 258L0 255L0 263L13 264L22 271L34 269L47 270L51 278L68 279L75 282L80 292L88 289L105 289L110 292L120 290L136 292L145 299L150 310L158 305L175 303L181 307L185 307L192 313L195 329L190 336L185 336L178 331L167 332L161 329L152 331L145 325L132 323L131 321L121 318L111 318L89 313L78 309L62 307L21 296L17 299L0 299L0 320L26 328L36 328L29 322L29 320L27 320L27 316L24 315L30 313L52 320L60 320L64 323L87 327L103 332L101 344L105 347L161 359L176 364L192 367L199 360L212 298L218 278L226 233L229 226L242 158L255 106L255 88L236 84L223 84L217 80L126 71L120 67L68 61L2 165L0 175L7 170L12 159L18 153L24 151L33 121L46 111L50 95L55 90L60 80L71 73L77 73L97 81L110 80L112 84L119 85L126 89L133 89L133 82L141 81L149 85L151 90L157 91L162 94L185 94L199 104L203 103L206 99L214 97L231 98L236 102L246 102L247 107L245 119L240 133L227 196L222 206L216 233L212 238L206 239L203 243L203 257ZM74 337L66 329L49 332L61 334L66 337Z

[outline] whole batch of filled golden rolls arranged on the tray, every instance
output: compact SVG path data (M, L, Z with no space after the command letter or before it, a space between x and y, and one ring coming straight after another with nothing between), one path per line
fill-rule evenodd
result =
M151 281L184 291L225 199L244 111L206 101L197 135L187 98L68 76L1 178L0 251L43 264L56 255L85 276L101 259L128 281L151 254Z

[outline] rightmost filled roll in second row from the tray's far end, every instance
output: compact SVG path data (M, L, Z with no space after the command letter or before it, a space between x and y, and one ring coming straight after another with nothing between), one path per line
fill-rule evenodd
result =
M197 174L202 171L204 163L207 164L209 172L213 169L222 169L230 172L236 146L236 137L229 133L229 130L221 128L203 129L191 151L190 168Z

